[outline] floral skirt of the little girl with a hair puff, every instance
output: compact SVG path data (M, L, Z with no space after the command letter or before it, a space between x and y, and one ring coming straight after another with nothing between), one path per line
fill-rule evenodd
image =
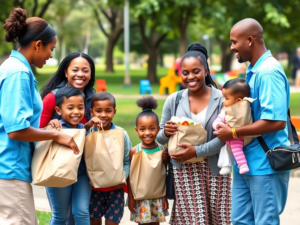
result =
M163 211L162 198L151 200L136 200L135 210L137 213L130 214L130 220L139 224L152 222L166 222L168 210Z

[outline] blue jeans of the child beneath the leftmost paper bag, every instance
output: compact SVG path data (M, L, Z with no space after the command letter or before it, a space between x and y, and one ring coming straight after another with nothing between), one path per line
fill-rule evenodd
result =
M65 225L72 204L76 225L89 225L91 185L86 173L80 173L77 182L64 188L46 187L52 207L50 225Z

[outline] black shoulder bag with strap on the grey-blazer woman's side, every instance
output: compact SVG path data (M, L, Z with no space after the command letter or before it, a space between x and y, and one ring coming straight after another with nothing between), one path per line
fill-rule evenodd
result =
M177 108L179 105L179 100L181 98L183 91L177 92L176 100L175 100L175 112L174 116L176 116ZM166 197L167 199L175 200L175 187L174 187L174 173L173 173L173 164L171 160L168 163L167 176L166 176Z

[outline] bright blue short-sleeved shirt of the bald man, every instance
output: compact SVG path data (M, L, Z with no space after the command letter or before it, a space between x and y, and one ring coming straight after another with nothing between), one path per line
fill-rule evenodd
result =
M287 121L289 83L282 66L270 51L263 54L254 66L248 66L246 81L251 88L250 97L257 99L251 104L253 122L260 119ZM287 126L283 130L263 134L262 137L271 150L276 146L290 145ZM257 138L244 147L244 153L250 169L247 175L277 173L271 168ZM237 165L234 166L234 170L239 171Z

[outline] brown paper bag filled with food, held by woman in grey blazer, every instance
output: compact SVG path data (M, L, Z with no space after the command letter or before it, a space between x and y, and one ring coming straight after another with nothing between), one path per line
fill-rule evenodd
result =
M198 124L196 126L184 126L178 125L178 131L176 134L172 135L168 142L169 154L175 154L182 152L184 148L179 147L177 144L189 144L193 146L201 145L207 141L207 132ZM185 162L201 162L204 160L204 157L201 158L192 158Z

